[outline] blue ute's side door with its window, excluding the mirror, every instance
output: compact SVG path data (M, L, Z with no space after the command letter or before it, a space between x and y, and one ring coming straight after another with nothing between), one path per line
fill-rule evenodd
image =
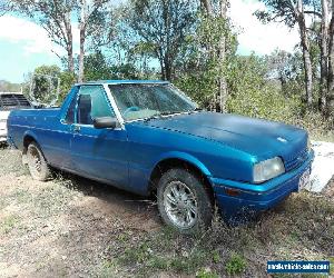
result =
M76 171L115 186L128 185L127 132L115 129L96 129L92 120L115 117L114 109L102 86L81 86L77 99L76 122L71 157Z

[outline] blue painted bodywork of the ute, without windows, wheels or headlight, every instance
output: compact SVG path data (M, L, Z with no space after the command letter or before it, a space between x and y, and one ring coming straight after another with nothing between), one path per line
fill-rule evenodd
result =
M168 82L89 82L100 83ZM80 131L75 131L73 125L66 123L65 118L79 87L72 88L59 109L12 111L8 119L9 142L22 150L24 137L30 136L51 166L143 196L150 193L150 176L159 162L187 161L207 177L225 216L276 206L297 191L299 177L314 157L307 151L306 131L228 113L199 111L124 122L124 128L115 130L82 126ZM277 140L278 137L286 142ZM273 157L281 157L286 169L294 168L264 183L254 183L254 165ZM240 191L232 197L227 189Z

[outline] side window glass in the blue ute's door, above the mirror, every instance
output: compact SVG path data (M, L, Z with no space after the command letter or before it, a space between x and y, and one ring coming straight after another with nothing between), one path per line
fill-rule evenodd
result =
M104 87L82 86L78 99L78 123L92 125L92 119L99 117L115 117Z

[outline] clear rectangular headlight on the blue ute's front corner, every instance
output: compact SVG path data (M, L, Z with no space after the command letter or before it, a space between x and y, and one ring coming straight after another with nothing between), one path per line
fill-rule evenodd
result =
M285 172L283 161L279 157L275 157L254 165L253 179L254 182L263 182Z

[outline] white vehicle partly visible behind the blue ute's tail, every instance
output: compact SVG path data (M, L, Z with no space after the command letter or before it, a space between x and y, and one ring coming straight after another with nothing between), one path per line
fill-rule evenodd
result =
M0 92L0 142L7 141L7 119L10 111L30 107L21 92Z

